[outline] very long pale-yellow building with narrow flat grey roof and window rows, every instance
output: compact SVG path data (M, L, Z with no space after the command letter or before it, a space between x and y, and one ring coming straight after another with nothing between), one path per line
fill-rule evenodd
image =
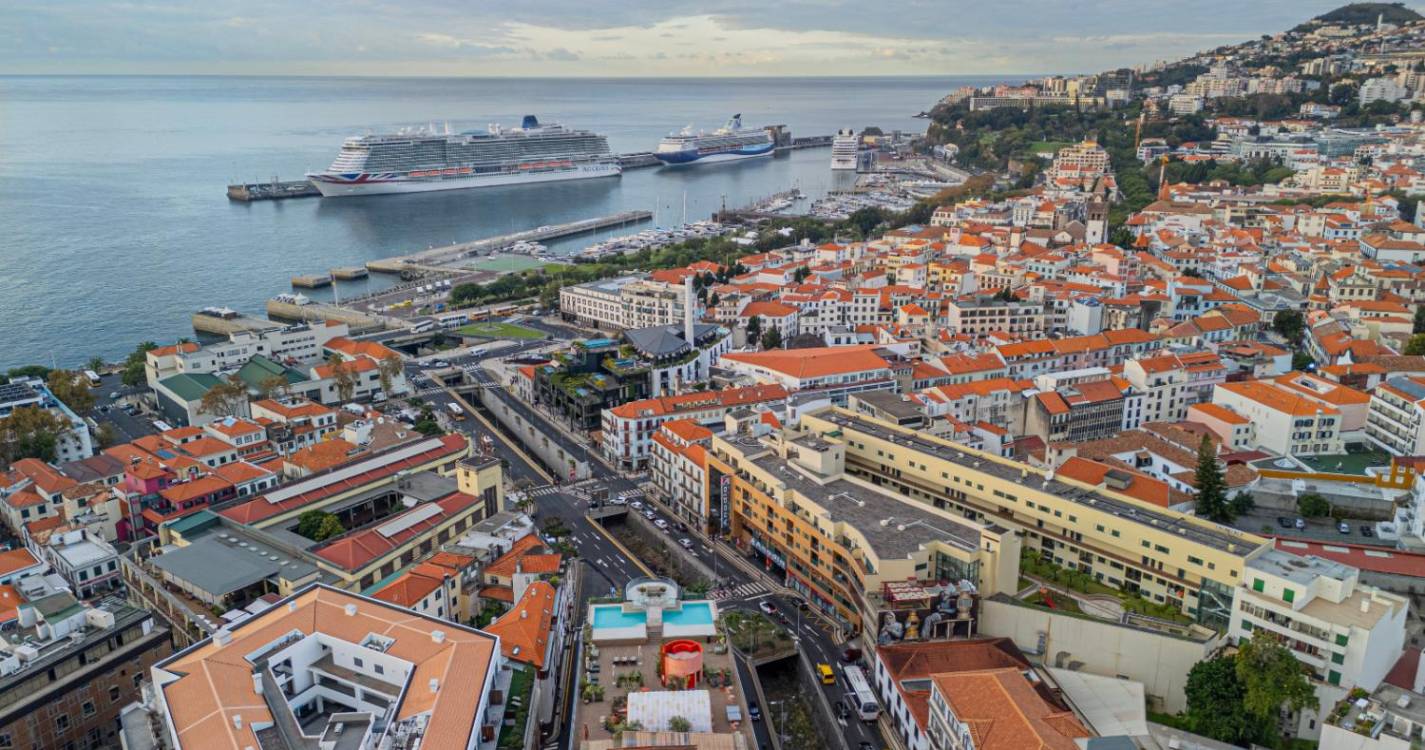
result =
M1226 629L1244 558L1267 542L1184 513L826 409L801 429L845 446L846 473L929 508L1012 529L1046 560Z

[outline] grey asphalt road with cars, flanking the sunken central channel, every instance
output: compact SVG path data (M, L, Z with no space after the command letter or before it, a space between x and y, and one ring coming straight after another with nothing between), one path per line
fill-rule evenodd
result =
M502 352L507 355L507 352ZM428 398L429 402L435 404L439 409L446 409L446 404L453 399L447 394L433 394ZM590 481L580 482L573 486L551 486L544 479L544 473L532 461L533 458L526 458L522 452L514 451L506 439L500 435L493 433L484 422L473 415L467 415L465 419L457 422L462 432L470 435L476 441L482 435L490 435L494 442L494 451L499 458L504 459L507 463L507 471L510 476L516 481L529 479L534 482L536 486L532 489L532 496L536 503L536 516L540 523L546 523L550 518L557 518L561 525L571 530L569 542L574 546L579 553L580 560L584 563L584 586L580 592L580 610L587 610L589 599L593 596L603 596L608 590L620 592L626 583L634 577L643 576L643 570L628 559L616 545L613 545L598 529L594 528L594 522L586 516L589 510L587 490L594 488L607 488L608 496L614 498L618 495L628 495L638 492L636 483L636 476L626 476L618 472L611 471L604 466L601 456L593 455L594 452L586 451L583 446L583 456L590 461L590 465L596 468L597 476ZM546 425L546 429L549 426ZM546 469L547 472L547 469ZM581 496L583 495L583 496ZM641 502L651 502L648 498L643 498ZM654 503L656 508L661 509L663 518L673 518L667 508ZM693 555L700 562L703 562L710 569L718 572L720 580L717 582L720 590L712 595L712 599L718 602L720 609L728 610L755 610L761 600L771 600L781 617L785 617L785 626L798 639L799 647L807 653L807 656L817 663L839 664L842 663L841 654L844 653L845 643L839 643L832 633L832 630L821 619L807 613L801 613L797 607L799 599L794 596L782 596L775 593L779 590L779 583L771 580L765 573L757 573L755 576L744 567L732 563L732 556L738 555L735 550L717 545L717 549L711 546L711 542L705 538L690 533L694 538L694 546L691 550L681 550L685 555ZM751 674L747 666L738 660L738 677L742 682L744 694L750 696L748 700L755 700L755 690L751 689ZM822 686L822 692L826 696L828 703L834 703L842 699L845 687L842 684ZM570 700L573 696L570 696ZM762 707L764 714L767 707ZM560 747L567 746L569 731L571 731L571 723L566 723L561 729ZM757 733L757 740L760 747L771 747L767 737L767 719L760 723L754 723L754 731ZM858 747L859 743L869 743L872 747L882 747L879 731L874 724L864 724L859 720L852 719L849 723L842 721L839 730L846 736L851 747Z

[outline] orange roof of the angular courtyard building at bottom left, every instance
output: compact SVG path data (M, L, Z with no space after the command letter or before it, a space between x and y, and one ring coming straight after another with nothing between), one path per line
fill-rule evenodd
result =
M348 607L355 607L352 615ZM470 744L479 727L476 714L494 659L494 639L405 607L315 585L232 626L227 644L204 640L155 664L158 673L172 676L160 689L178 750L258 747L252 727L271 724L274 717L254 690L247 654L294 632L304 637L321 633L351 643L352 649L361 649L359 643L369 633L390 637L386 653L413 664L392 720L425 714L422 747ZM429 684L435 684L435 690ZM242 721L234 721L237 716Z

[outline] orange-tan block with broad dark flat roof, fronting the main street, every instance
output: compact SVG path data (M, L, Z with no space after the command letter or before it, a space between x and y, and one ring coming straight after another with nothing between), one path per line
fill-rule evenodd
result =
M913 613L926 637L969 635L972 595L1016 587L1019 536L905 500L851 476L845 459L846 443L814 433L714 436L714 513L727 513L740 549L842 627L899 632Z

